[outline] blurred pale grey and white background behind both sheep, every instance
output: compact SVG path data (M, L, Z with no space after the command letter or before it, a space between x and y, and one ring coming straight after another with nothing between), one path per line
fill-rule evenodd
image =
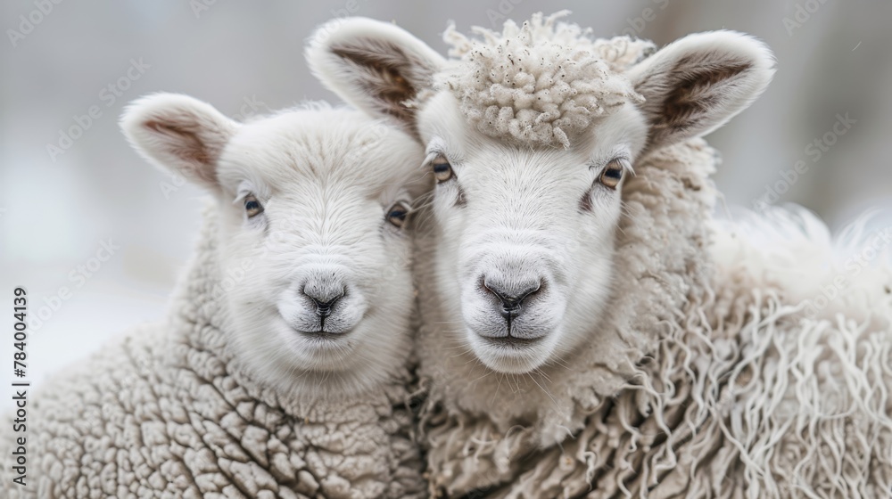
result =
M4 2L4 386L12 378L16 285L27 287L29 313L41 319L29 336L27 379L35 384L112 334L165 312L191 251L202 192L178 187L129 149L117 127L127 102L180 92L244 117L331 100L301 50L311 30L332 17L393 20L444 52L448 20L467 32L565 8L570 20L605 37L635 34L663 45L695 31L736 29L771 45L778 59L772 86L709 137L723 153L716 182L729 204L752 208L769 190L783 191L776 202L802 204L836 229L863 209L892 204L892 3L884 0ZM845 135L826 135L838 115L854 123ZM797 160L808 169L790 180L782 172ZM105 257L97 252L110 238L120 249L105 262L92 259ZM60 297L62 286L70 294ZM0 401L10 405L9 397Z

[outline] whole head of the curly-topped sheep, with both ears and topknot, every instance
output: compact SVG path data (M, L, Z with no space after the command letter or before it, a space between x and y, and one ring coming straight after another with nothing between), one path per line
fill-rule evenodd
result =
M425 145L437 299L498 372L558 362L593 336L636 158L720 127L772 76L771 53L738 33L650 54L556 19L508 22L482 40L450 29L448 61L364 19L323 26L307 51L327 86Z

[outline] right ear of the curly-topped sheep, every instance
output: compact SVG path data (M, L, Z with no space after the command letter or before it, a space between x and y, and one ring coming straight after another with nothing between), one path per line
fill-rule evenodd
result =
M648 125L648 149L706 135L753 102L774 74L771 50L733 31L676 40L629 70Z

